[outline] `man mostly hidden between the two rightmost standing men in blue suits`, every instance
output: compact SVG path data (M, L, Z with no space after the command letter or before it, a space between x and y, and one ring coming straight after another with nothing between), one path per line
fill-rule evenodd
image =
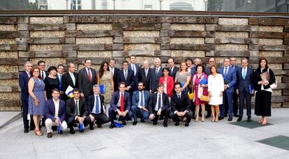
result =
M235 57L230 57L230 67L235 70L239 70L239 66L236 65L236 58ZM233 113L235 117L238 117L238 95L237 95L237 85L238 81L234 84L234 93L233 93Z

